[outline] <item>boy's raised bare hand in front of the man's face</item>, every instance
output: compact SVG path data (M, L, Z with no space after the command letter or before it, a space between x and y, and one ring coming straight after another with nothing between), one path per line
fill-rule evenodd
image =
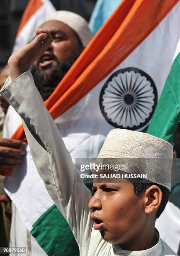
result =
M11 78L14 80L20 74L30 69L31 64L39 59L49 48L52 40L52 35L48 30L37 29L34 40L29 44L21 46L15 54L10 56L7 64Z

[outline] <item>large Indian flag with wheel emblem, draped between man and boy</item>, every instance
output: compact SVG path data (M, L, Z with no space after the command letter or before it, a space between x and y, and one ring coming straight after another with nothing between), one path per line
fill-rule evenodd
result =
M179 14L179 0L123 0L46 100L74 163L96 157L113 128L147 130L180 50ZM25 139L23 126L12 138ZM46 253L59 255L61 220L33 174L13 172L7 194Z

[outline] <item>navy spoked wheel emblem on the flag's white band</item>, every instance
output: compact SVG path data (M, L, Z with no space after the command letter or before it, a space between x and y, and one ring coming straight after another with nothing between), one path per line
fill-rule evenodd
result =
M102 87L100 109L114 127L137 130L152 118L157 98L155 83L148 74L136 68L120 69Z

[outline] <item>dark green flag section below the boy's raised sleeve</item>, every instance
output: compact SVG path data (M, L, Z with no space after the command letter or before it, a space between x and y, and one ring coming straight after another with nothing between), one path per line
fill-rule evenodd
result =
M41 215L30 233L49 256L79 256L72 231L55 205Z

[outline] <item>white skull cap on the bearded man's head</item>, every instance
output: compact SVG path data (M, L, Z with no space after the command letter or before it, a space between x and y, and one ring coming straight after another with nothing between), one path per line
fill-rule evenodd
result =
M87 46L92 39L92 33L88 27L87 21L76 13L60 10L50 15L43 23L50 20L60 21L72 28L79 36L83 47Z

